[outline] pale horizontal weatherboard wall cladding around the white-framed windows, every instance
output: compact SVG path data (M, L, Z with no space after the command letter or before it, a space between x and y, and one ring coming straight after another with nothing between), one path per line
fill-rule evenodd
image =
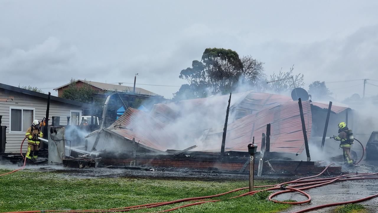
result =
M45 98L0 89L0 115L3 116L1 125L7 126L5 152L20 152L21 142L25 138L25 132L9 133L9 114L11 113L11 108L34 109L34 119L42 121L43 117L46 116L46 105L47 99ZM70 116L71 110L81 111L82 107L51 100L49 111L50 124L52 116L60 116L60 124L66 125L67 116ZM23 152L26 152L26 150L27 144L24 143Z

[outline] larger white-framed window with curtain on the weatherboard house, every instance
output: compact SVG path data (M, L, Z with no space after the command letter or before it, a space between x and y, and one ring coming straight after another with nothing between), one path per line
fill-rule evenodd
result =
M33 124L34 109L10 107L10 132L23 133Z

